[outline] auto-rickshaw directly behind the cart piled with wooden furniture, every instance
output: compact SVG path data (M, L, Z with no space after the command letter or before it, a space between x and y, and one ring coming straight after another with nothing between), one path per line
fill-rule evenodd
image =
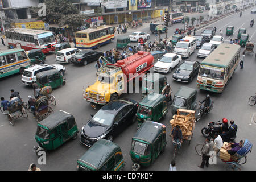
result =
M181 86L174 94L172 114L176 114L177 109L196 110L196 94L196 89Z

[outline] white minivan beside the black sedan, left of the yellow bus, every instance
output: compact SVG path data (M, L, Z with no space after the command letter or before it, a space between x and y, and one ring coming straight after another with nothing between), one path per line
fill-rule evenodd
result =
M79 52L80 50L77 48L67 48L62 49L56 52L56 61L60 63L69 63L71 64L71 57L75 55L75 53Z

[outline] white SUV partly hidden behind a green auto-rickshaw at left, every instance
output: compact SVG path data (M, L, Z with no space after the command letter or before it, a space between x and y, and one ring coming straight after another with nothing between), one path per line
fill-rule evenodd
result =
M64 72L66 71L65 67L61 64L36 64L24 70L22 74L22 83L25 85L32 85L32 81L36 81L36 74L50 69L59 70L61 75L64 75Z

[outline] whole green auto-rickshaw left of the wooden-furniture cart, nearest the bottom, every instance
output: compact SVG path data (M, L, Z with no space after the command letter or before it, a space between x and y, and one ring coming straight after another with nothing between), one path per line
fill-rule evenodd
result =
M132 138L130 156L134 162L133 170L152 164L166 147L166 126L161 123L145 121Z

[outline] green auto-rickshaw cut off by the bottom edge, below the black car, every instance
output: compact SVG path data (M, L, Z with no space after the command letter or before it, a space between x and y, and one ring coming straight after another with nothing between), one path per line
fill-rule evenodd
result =
M118 144L99 139L77 160L77 171L121 171L125 167Z

